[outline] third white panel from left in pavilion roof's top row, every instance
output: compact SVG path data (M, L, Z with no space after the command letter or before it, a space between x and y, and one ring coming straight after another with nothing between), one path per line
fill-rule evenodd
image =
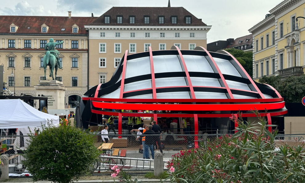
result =
M204 56L183 55L183 58L189 72L214 72Z

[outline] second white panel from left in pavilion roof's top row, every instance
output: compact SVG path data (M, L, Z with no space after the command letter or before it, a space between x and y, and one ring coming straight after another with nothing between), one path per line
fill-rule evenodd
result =
M182 68L177 55L157 55L153 56L153 67L155 73L161 72L181 72Z

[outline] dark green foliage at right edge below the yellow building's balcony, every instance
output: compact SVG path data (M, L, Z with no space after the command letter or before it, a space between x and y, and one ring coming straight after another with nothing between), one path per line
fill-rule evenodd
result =
M274 87L286 102L301 102L305 96L305 75L289 76L263 76L259 79L260 83L266 83Z

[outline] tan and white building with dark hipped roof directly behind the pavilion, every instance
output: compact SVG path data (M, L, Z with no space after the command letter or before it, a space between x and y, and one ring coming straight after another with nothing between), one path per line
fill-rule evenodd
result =
M112 7L89 30L89 87L109 81L125 51L206 47L211 26L183 7Z

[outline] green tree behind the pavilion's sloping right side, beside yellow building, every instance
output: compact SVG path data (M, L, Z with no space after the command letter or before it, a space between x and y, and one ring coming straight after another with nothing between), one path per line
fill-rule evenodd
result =
M253 53L252 51L242 51L235 48L225 49L227 52L232 54L238 62L244 67L247 73L252 77L253 75Z

